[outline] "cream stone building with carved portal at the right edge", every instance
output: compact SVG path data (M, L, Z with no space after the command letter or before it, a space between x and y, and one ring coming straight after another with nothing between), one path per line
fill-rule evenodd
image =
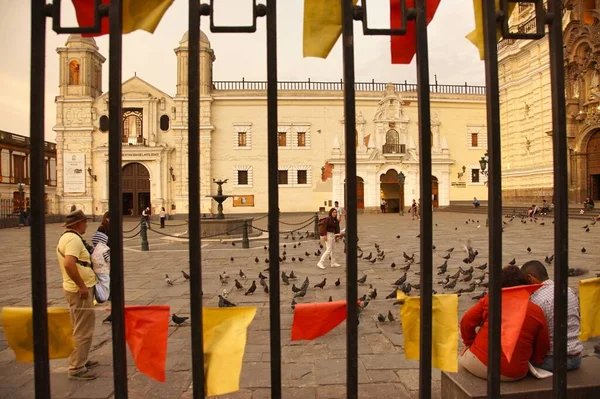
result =
M563 1L569 200L600 200L600 9L597 0ZM536 29L532 4L519 4L511 25ZM548 35L503 40L499 48L503 196L552 199L552 107Z

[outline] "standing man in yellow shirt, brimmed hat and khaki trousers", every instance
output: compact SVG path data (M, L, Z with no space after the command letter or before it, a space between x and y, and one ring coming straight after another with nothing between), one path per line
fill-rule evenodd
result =
M71 212L64 226L66 230L58 240L56 256L75 341L75 350L69 356L69 379L89 381L96 378L89 370L98 365L98 362L88 359L96 321L94 286L97 279L90 253L81 237L87 228L87 218L81 210Z

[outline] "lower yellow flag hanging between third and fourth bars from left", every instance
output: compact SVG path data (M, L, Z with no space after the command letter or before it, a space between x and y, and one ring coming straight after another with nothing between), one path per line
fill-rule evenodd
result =
M256 308L204 308L202 314L206 395L238 391L247 329Z

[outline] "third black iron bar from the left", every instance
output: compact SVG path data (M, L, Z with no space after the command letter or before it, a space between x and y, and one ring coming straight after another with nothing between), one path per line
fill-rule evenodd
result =
M200 0L190 1L188 41L188 204L190 232L190 312L194 398L205 397L200 245ZM210 184L210 182L207 182Z

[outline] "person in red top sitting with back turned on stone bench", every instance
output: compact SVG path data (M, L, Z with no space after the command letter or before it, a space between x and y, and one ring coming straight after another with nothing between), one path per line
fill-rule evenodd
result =
M517 266L502 269L501 284L503 288L529 284L525 275ZM486 379L488 362L488 307L486 295L473 306L460 322L460 335L465 349L459 357L461 366L473 375ZM476 329L479 328L479 331ZM516 381L527 375L528 363L541 363L550 349L548 326L542 309L529 301L527 313L517 346L509 362L504 353L500 359L500 379Z

